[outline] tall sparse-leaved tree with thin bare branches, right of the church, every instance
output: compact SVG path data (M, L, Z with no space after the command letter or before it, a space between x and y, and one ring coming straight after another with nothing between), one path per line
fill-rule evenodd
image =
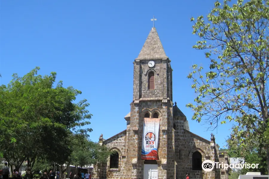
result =
M269 172L268 5L268 0L216 1L206 20L191 18L193 34L201 38L193 48L204 50L211 64L205 73L193 65L188 78L197 97L187 107L194 111L192 119L209 124L210 130L236 122L231 138L242 150L253 146L265 152Z

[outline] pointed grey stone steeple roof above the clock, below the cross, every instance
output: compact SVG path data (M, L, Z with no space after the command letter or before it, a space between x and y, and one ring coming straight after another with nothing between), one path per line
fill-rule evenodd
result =
M160 59L160 58L168 58L168 57L166 56L163 50L163 45L161 43L157 31L155 27L153 27L136 60Z

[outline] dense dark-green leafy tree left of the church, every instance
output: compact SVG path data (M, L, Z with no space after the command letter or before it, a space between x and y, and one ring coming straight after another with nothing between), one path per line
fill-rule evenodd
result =
M56 73L42 77L38 70L14 74L10 84L0 86L0 151L16 168L25 159L33 167L41 155L66 161L72 153L70 136L88 137L92 131L81 128L90 124L87 100L74 103L81 91L64 88L62 81L53 87Z

